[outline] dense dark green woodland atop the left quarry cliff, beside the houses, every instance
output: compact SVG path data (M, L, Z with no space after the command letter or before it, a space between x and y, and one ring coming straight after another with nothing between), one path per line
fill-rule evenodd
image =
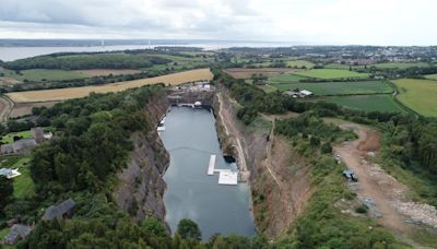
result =
M145 104L162 94L149 86L118 94L91 95L44 109L57 138L34 150L31 175L44 195L63 191L98 192L126 164L131 132L149 129Z

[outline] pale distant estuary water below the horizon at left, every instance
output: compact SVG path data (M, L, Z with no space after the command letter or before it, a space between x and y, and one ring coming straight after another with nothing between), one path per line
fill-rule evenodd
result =
M0 39L0 60L13 61L55 52L117 51L155 48L158 46L199 47L215 50L231 47L287 47L293 43L225 42L225 40L57 40Z

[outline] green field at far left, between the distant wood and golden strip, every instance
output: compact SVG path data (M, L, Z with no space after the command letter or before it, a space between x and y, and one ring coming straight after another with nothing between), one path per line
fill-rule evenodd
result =
M15 73L15 71L4 70L3 71L5 78L12 78L17 81L23 82L27 81L62 81L62 80L75 80L75 79L84 79L88 75L78 71L67 71L67 70L47 70L47 69L29 69L22 70L20 74Z

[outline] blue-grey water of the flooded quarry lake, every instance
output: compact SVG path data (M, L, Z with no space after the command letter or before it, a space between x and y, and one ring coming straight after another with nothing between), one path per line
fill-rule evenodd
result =
M210 156L215 154L216 169L237 169L222 156L215 118L206 109L172 107L161 133L170 154L170 165L164 176L166 222L172 232L182 218L194 221L208 239L222 235L256 234L250 212L250 189L247 183L218 185L218 174L208 176Z

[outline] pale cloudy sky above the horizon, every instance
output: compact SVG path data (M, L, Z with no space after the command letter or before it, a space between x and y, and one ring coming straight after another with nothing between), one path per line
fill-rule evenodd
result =
M435 0L0 0L0 38L437 45Z

